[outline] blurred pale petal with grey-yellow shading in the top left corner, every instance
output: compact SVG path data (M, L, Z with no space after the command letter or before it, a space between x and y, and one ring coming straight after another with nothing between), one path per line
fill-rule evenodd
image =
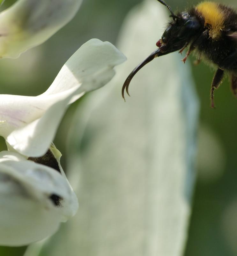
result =
M82 0L19 0L0 13L0 57L18 57L68 23Z

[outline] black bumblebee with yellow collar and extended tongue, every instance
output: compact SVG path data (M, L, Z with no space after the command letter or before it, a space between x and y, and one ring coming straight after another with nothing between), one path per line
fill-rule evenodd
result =
M144 65L155 57L171 52L180 53L188 47L185 63L191 52L196 52L198 59L207 60L216 67L211 83L211 108L214 108L214 91L223 81L225 73L230 76L231 89L237 96L237 13L233 9L214 2L202 2L187 12L174 14L169 5L165 5L172 20L168 23L161 39L156 43L158 49L141 62L125 80L122 87L129 95L131 79Z

